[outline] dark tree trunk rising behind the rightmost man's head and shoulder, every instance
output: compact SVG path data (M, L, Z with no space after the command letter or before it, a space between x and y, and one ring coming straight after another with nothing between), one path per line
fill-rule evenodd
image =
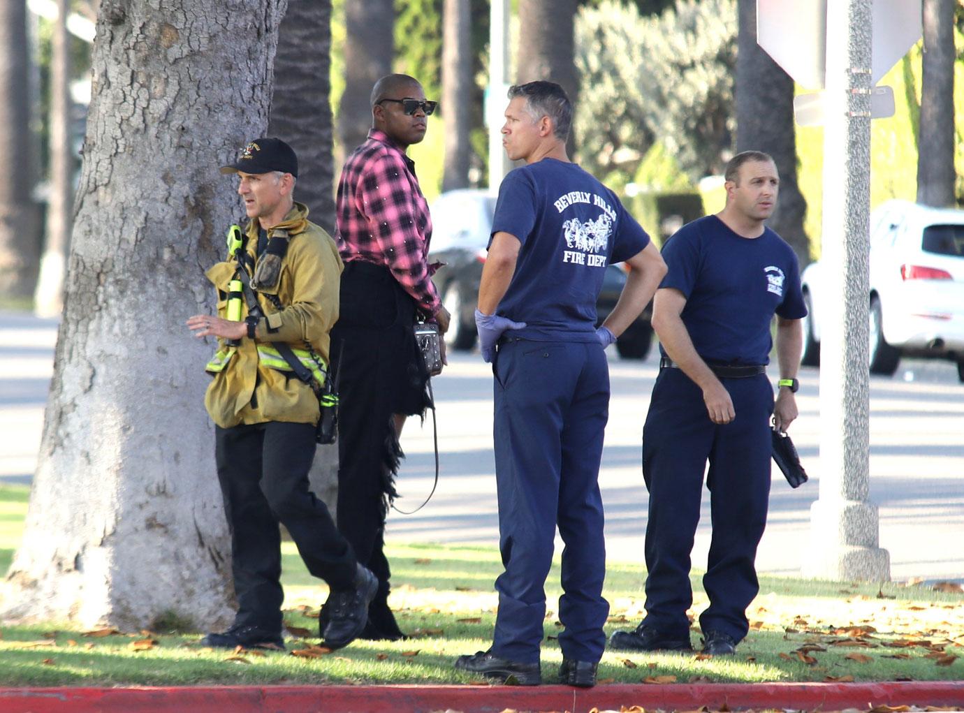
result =
M736 150L765 151L780 173L780 198L767 224L810 262L803 229L807 201L796 182L793 80L757 44L756 0L739 0L736 52Z

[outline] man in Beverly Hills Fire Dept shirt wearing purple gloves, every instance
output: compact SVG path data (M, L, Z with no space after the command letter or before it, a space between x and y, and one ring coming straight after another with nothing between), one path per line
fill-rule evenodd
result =
M502 127L509 158L525 166L499 188L475 319L495 376L495 480L505 571L488 651L456 668L541 682L546 594L556 524L562 553L559 634L565 683L596 682L603 654L605 552L597 477L608 414L603 350L653 297L665 266L616 196L566 155L573 108L557 84L509 90ZM630 268L619 303L598 330L605 266Z

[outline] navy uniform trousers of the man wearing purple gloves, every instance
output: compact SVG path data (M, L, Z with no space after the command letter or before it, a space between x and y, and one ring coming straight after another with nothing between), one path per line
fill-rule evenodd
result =
M539 661L555 528L565 543L559 634L563 655L599 661L603 500L598 484L609 372L597 342L507 340L495 364L495 480L504 572L495 580L493 652Z

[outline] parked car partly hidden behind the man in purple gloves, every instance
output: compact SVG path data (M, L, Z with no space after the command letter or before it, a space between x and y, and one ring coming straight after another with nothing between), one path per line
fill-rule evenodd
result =
M445 263L432 279L442 295L442 304L452 316L445 341L454 349L470 350L475 346L475 304L494 214L495 196L481 189L447 191L432 203L429 262ZM625 284L626 270L622 264L607 265L596 303L597 326L616 306ZM619 356L646 358L653 341L651 314L651 307L647 306L619 337Z

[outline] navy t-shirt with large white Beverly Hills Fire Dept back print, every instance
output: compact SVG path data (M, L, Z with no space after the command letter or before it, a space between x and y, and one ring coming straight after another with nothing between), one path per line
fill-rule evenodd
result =
M497 232L519 238L522 249L496 314L526 323L514 335L541 341L594 340L605 266L650 242L612 191L576 164L551 158L502 180Z

